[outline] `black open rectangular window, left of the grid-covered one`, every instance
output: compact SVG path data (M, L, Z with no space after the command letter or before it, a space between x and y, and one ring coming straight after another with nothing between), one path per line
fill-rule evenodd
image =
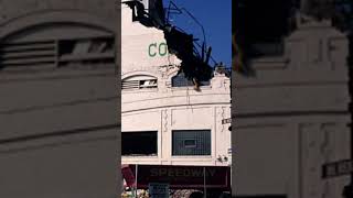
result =
M157 155L158 132L139 131L121 133L121 155Z

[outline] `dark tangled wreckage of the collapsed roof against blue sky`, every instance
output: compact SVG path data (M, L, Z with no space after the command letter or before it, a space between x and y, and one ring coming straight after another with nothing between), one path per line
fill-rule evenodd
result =
M202 46L197 46L193 34L184 32L165 20L165 15L169 15L171 10L182 13L182 10L172 1L168 9L163 8L162 0L128 0L122 3L132 9L132 21L163 31L169 52L182 61L180 72L192 79L195 88L199 88L200 81L212 78L214 69L208 64L212 48L205 45L205 41ZM188 14L191 13L188 12Z

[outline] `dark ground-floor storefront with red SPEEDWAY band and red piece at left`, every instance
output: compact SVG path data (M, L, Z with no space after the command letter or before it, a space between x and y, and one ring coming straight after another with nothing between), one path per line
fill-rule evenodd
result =
M217 195L231 191L228 166L122 165L125 188L148 190L150 184L167 184L170 195L206 191ZM137 179L136 179L137 178Z

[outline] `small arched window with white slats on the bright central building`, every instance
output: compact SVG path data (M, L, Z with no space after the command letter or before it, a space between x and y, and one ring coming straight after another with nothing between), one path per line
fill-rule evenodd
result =
M122 80L122 90L137 90L137 89L156 89L158 88L157 78L147 75L136 75Z

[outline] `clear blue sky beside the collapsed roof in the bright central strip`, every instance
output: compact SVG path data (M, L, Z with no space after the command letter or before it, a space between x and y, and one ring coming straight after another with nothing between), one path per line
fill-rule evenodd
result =
M164 7L170 0L163 0ZM212 57L232 65L232 0L173 0L179 8L185 8L203 25L206 44L212 46ZM202 29L190 16L171 15L171 23L194 34L203 41ZM212 63L212 62L211 62Z

